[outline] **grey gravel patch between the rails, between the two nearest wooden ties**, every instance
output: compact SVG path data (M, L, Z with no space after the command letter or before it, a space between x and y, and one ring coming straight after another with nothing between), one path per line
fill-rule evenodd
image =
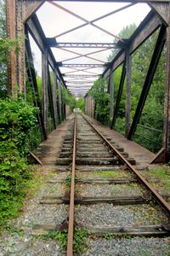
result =
M77 224L90 226L139 226L168 223L164 212L150 205L113 206L98 204L92 206L77 206L75 211Z

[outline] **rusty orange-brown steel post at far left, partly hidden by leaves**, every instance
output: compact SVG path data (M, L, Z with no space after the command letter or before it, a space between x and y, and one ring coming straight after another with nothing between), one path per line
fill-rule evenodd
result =
M7 34L8 38L16 38L16 9L15 9L15 0L6 0L7 4ZM14 96L17 85L17 73L16 73L16 55L14 50L12 50L8 57L8 92Z

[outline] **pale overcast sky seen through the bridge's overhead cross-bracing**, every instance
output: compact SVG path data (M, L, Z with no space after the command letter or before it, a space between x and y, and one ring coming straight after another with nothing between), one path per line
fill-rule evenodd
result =
M66 33L65 35L60 35L76 26L81 26L87 20L95 20L100 16L111 13L116 9L120 9L129 3L87 3L87 2L58 2L58 7L52 5L51 3L44 3L42 7L37 10L37 17L42 25L42 30L47 38L56 37L57 42L84 42L84 43L113 43L115 38L113 35L118 35L122 31L122 28L135 23L139 26L139 23L144 20L144 17L150 12L150 7L146 3L138 3L133 6L117 12L114 15L105 17L94 22L94 25L100 26L103 30L109 32L100 31L98 28L91 26L90 24L82 26L82 28L75 30L74 32ZM77 17L65 12L62 8L69 9L76 15L81 16L83 19L78 19ZM87 22L88 22L87 21ZM37 45L31 38L31 49L34 53L34 64L37 69L38 75L41 76L41 52ZM88 54L96 49L70 49L76 51L80 55ZM93 58L89 59L84 56L76 59L69 59L77 57L77 54L70 53L63 49L52 49L56 61L63 61L63 63L103 63L106 62L108 56L111 54L111 49L101 51L94 55L89 55ZM95 60L94 60L95 59ZM65 61L68 60L68 61ZM78 68L77 68L78 69ZM61 73L73 71L71 68L61 67ZM102 73L103 68L95 68L90 70L92 73ZM87 72L79 72L73 74L88 74ZM93 80L92 78L90 78ZM67 80L71 80L67 78ZM89 80L89 79L88 79Z

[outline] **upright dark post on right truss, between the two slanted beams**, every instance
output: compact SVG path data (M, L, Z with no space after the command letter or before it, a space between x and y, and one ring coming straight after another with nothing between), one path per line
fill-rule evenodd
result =
M126 124L125 137L127 137L131 126L131 82L132 82L132 56L129 50L126 49L126 69L127 69L127 84L126 84Z

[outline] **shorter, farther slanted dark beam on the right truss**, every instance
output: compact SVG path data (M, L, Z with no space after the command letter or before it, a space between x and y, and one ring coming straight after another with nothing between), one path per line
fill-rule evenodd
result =
M116 106L115 106L113 119L112 119L112 122L111 122L111 129L113 129L113 127L115 127L115 124L116 124L116 116L117 116L119 105L120 105L120 102L121 102L122 88L123 88L123 84L124 84L124 81L125 81L125 77L126 77L126 61L123 62L122 75L121 75L121 80L120 80L120 84L119 84L119 90L118 90L117 96L116 96Z

